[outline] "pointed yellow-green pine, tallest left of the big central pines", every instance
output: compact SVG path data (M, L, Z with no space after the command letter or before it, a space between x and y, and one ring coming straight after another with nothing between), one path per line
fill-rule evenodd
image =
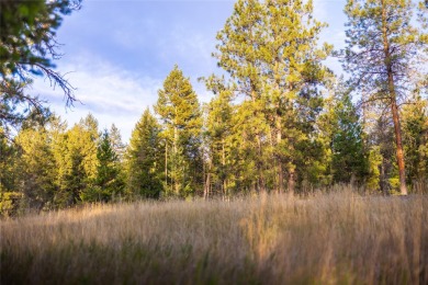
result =
M178 66L168 75L158 95L155 111L164 123L166 191L190 196L200 190L203 179L198 96Z

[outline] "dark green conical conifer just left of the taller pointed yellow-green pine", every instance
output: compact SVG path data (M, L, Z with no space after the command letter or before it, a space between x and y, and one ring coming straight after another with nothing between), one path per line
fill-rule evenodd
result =
M159 198L162 193L160 126L146 109L126 151L126 191L131 197Z

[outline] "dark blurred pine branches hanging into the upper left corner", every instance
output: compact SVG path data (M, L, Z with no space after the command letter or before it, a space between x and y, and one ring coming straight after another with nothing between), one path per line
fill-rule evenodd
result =
M81 0L0 1L0 126L20 126L23 121L44 122L49 116L44 101L27 94L34 76L48 78L75 101L72 87L53 70L58 59L56 31L63 16L80 7Z

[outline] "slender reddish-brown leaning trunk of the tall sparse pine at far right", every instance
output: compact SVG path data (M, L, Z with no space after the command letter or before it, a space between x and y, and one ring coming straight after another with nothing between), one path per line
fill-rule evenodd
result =
M398 174L399 174L399 192L402 195L407 195L406 172L404 167L404 151L403 151L403 142L402 142L402 129L399 126L399 114L398 114L397 99L396 99L395 84L394 84L394 72L391 62L392 55L390 50L390 42L387 38L386 7L384 0L382 0L382 33L383 33L383 48L385 54L385 65L386 65L386 72L387 72L387 87L391 96L391 112L394 121L396 155L397 155L397 164L398 164Z

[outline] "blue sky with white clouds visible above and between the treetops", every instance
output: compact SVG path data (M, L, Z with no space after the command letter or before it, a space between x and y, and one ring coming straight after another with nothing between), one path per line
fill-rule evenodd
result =
M67 109L64 93L40 78L32 92L48 101L68 125L89 113L100 130L114 123L127 142L144 110L174 65L191 79L200 101L212 94L200 77L221 73L212 57L215 36L232 15L235 1L217 0L83 0L80 11L65 16L57 32L64 55L56 70L76 88L80 102ZM320 42L345 44L345 0L314 0L314 16L328 23ZM326 61L335 72L340 65Z

